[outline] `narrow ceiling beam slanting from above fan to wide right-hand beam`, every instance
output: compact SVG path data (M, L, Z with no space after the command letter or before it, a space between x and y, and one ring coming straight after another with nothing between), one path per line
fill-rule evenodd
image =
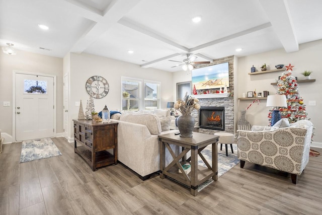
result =
M271 23L265 23L263 25L259 25L259 26L256 26L254 28L247 29L245 31L240 31L240 32L235 33L235 34L231 34L229 36L226 36L226 37L223 37L223 38L211 41L211 42L207 42L207 43L202 44L202 45L198 45L198 46L196 46L194 48L189 49L189 51L192 52L192 51L196 51L196 50L199 50L199 49L202 49L202 48L206 48L206 47L218 44L218 43L225 42L227 40L231 40L231 39L234 39L234 38L237 38L237 37L240 37L240 36L244 36L246 34L253 33L255 31L259 31L259 30L262 30L262 29L265 29L265 28L269 28L271 26L272 26Z

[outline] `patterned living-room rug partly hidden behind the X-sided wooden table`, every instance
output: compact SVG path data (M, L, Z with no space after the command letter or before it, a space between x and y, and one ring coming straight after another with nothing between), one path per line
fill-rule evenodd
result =
M220 151L220 144L218 144L218 178L228 172L231 168L239 164L239 160L237 159L237 145L232 145L233 154L231 153L230 145L228 145L228 156L226 156L225 145L222 145L222 151ZM211 145L208 145L204 150L201 151L201 154L205 157L208 163L211 165ZM207 167L201 158L198 156L198 165ZM198 192L200 192L203 188L208 186L213 182L212 178L208 181L202 183L198 186Z

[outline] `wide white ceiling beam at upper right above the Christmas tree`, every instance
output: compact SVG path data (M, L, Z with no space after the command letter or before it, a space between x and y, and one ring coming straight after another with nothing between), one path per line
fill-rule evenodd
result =
M298 51L298 42L290 14L288 0L260 0L263 10L286 52Z

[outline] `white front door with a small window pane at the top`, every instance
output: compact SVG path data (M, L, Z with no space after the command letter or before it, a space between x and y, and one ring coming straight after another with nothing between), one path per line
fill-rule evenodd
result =
M16 140L54 136L54 78L16 74Z

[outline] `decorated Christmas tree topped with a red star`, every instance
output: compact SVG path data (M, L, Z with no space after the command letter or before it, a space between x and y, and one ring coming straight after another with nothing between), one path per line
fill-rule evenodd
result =
M290 123L294 123L301 119L306 119L307 113L305 112L305 105L303 98L298 92L298 84L295 77L291 76L293 70L291 64L286 66L286 73L282 73L280 80L277 83L278 89L277 94L285 95L287 107L278 107L282 118L288 118ZM276 108L273 108L276 110ZM268 114L269 121L271 123L272 112L270 110Z

